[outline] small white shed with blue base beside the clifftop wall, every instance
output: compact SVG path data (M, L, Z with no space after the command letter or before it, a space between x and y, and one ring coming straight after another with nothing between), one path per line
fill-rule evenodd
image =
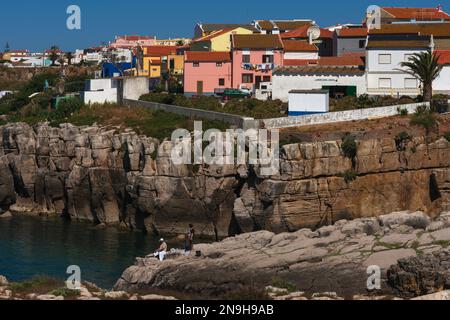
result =
M289 91L289 116L303 116L330 111L328 90Z

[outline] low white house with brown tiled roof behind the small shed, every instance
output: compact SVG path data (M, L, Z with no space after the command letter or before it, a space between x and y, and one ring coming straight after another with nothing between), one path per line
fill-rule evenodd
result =
M284 102L293 90L328 90L332 98L366 93L364 61L358 56L321 57L313 61L285 60L272 77L272 98Z

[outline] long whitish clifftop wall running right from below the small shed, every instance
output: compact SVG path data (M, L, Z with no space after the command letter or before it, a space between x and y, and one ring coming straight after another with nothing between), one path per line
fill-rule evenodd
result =
M406 109L409 113L414 113L418 106L426 103L405 104L401 106L379 107L370 109L357 109L341 112L330 112L325 114L307 115L301 117L287 117L277 119L260 120L261 126L266 129L287 128L307 125L326 124L334 122L346 122L354 120L365 120L372 118L385 118L398 114L398 109Z

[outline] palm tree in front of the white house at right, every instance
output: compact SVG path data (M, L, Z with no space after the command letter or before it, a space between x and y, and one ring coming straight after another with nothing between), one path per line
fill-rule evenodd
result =
M401 66L404 72L416 77L422 83L423 98L426 102L433 99L433 81L439 76L443 65L439 64L439 56L430 51L415 53Z

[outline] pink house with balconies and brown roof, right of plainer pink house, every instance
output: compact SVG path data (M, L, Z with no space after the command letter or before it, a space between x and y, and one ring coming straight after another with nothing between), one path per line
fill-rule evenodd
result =
M272 70L283 64L283 42L278 34L232 36L233 88L259 89L272 81Z

